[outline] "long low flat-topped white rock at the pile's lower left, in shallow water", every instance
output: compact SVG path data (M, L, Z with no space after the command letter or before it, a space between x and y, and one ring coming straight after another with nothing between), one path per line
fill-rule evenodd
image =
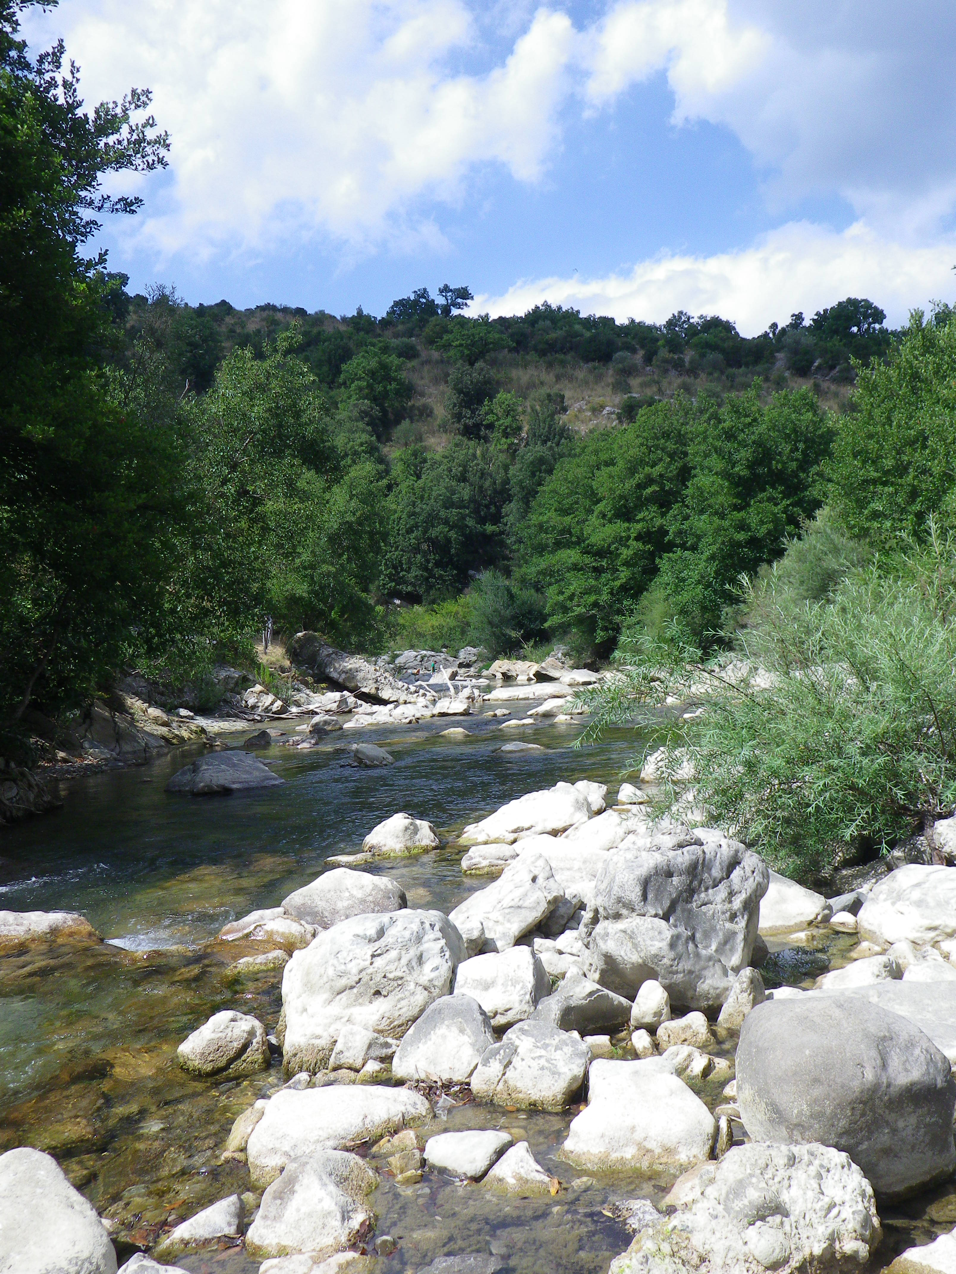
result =
M246 1144L252 1185L274 1181L291 1159L377 1142L431 1116L421 1093L379 1084L282 1088L263 1107Z

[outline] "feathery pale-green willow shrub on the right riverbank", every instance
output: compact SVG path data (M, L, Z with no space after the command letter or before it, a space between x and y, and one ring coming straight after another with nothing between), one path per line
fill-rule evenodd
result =
M597 696L583 741L637 719L667 744L665 800L684 757L695 803L780 870L827 875L886 852L956 806L956 543L849 575L794 604L778 572L747 585L739 659L648 641ZM630 659L628 659L630 654ZM690 720L669 699L700 699Z

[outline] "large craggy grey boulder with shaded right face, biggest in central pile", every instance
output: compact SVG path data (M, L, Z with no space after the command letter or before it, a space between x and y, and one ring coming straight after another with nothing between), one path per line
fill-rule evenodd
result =
M719 1008L757 936L766 865L737 841L668 837L611 852L579 930L586 976L634 1000L655 978L673 1004Z

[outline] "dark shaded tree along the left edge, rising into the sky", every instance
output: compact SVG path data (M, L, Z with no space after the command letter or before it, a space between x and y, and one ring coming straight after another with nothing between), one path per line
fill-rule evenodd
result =
M25 0L0 4L0 717L75 702L158 636L182 446L176 422L111 401L121 283L82 246L139 200L105 173L150 171L168 148L149 93L83 110L62 43L31 59ZM121 307L120 307L121 308Z

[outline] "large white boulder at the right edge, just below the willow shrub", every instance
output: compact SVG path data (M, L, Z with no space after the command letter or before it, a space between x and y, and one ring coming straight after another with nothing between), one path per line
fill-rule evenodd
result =
M927 947L956 936L956 868L908 862L874 884L857 915L865 941Z

